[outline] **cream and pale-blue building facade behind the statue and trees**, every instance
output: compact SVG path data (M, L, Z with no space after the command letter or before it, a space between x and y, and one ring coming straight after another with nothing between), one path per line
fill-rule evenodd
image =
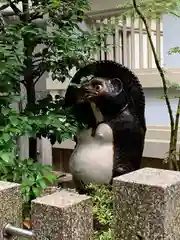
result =
M107 53L100 51L95 58L97 60L109 59L122 63L132 69L139 77L146 97L146 121L148 127L144 157L162 159L168 151L170 137L167 107L165 101L160 99L163 95L162 81L156 69L144 24L140 19L124 15L118 5L119 0L91 0L91 11L87 14L87 18L81 27L89 30L94 28L98 31L98 29L105 27L106 24L113 24L114 33L109 35L105 42L105 45L109 46L109 51ZM8 11L10 12L10 9ZM161 19L148 20L152 40L161 66L165 68L168 80L176 84L180 84L180 55L169 56L168 51L172 47L180 46L180 33L177 31L179 23L180 19L168 15L162 16ZM75 71L76 69L71 71L72 76ZM70 79L66 79L64 83L52 81L51 76L45 74L38 82L36 91L40 95L46 93L50 93L52 96L56 94L63 95L69 82ZM179 94L175 90L169 91L174 111L177 108L177 99L174 96L179 96ZM26 156L28 147L24 142L23 139L21 149L22 155ZM178 144L180 145L180 134ZM74 143L72 141L65 141L62 144L51 146L47 139L39 140L39 160L48 164L53 161L66 161L73 147Z

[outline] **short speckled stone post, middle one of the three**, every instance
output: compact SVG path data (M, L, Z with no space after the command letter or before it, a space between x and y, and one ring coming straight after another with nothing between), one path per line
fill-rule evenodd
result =
M89 197L61 190L32 201L35 240L90 240L93 232Z

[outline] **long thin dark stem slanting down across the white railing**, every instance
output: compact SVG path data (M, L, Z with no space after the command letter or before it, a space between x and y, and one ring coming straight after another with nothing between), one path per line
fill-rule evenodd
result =
M168 112L169 112L171 130L173 130L174 129L174 117L173 117L173 111L172 111L171 103L170 103L169 97L168 97L168 90L167 90L167 84L166 84L166 78L165 78L165 75L164 75L164 71L163 71L163 68L160 66L159 59L158 59L158 56L156 54L156 50L155 50L155 47L154 47L154 43L152 41L152 37L151 37L150 31L149 31L149 27L148 27L146 18L144 17L142 12L139 10L139 8L137 6L137 3L136 3L136 0L133 0L133 6L134 6L134 9L135 9L136 13L139 15L140 19L143 21L143 23L145 25L145 28L146 28L148 40L149 40L149 43L150 43L150 46L151 46L151 49L152 49L152 52L153 52L156 67L157 67L157 69L159 71L159 74L161 76L161 79L162 79L163 90L164 90L164 98L165 98L166 105L167 105Z

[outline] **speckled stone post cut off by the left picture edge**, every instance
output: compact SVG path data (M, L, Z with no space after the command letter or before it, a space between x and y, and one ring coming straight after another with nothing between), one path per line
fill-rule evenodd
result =
M0 239L8 224L22 227L22 199L19 184L0 181ZM11 239L17 239L16 237Z

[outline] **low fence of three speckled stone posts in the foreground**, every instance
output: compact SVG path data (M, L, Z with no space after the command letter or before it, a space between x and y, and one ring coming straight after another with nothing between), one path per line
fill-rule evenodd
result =
M143 168L115 178L113 192L113 239L180 239L180 172ZM31 217L35 240L89 240L93 233L91 199L67 190L33 200ZM20 187L0 182L0 239L22 239L11 238L21 227Z

